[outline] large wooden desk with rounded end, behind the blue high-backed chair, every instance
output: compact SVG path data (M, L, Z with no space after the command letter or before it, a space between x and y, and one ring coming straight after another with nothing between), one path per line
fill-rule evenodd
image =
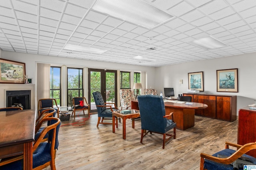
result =
M192 105L186 105L185 103L172 103L164 102L165 114L169 115L174 112L173 119L176 122L176 128L180 130L186 130L195 125L195 110L204 109L208 107L206 104L191 102ZM132 109L139 109L138 101L132 101Z

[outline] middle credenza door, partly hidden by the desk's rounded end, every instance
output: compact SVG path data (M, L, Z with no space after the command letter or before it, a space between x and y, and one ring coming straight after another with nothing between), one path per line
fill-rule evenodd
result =
M216 118L216 96L204 96L204 104L208 105L204 109L204 116Z

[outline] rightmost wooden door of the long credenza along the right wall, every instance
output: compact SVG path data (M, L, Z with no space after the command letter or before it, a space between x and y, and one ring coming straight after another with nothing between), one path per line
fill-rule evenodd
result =
M217 118L221 120L231 120L231 98L217 96Z

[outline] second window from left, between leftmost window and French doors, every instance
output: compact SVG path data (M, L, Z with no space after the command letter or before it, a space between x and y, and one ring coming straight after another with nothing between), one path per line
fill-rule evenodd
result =
M83 69L68 68L68 94L72 97L82 97L83 92Z

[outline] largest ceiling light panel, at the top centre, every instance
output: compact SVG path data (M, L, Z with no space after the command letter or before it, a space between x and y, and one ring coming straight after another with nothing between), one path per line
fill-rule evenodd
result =
M173 18L143 0L96 0L92 9L149 29Z

